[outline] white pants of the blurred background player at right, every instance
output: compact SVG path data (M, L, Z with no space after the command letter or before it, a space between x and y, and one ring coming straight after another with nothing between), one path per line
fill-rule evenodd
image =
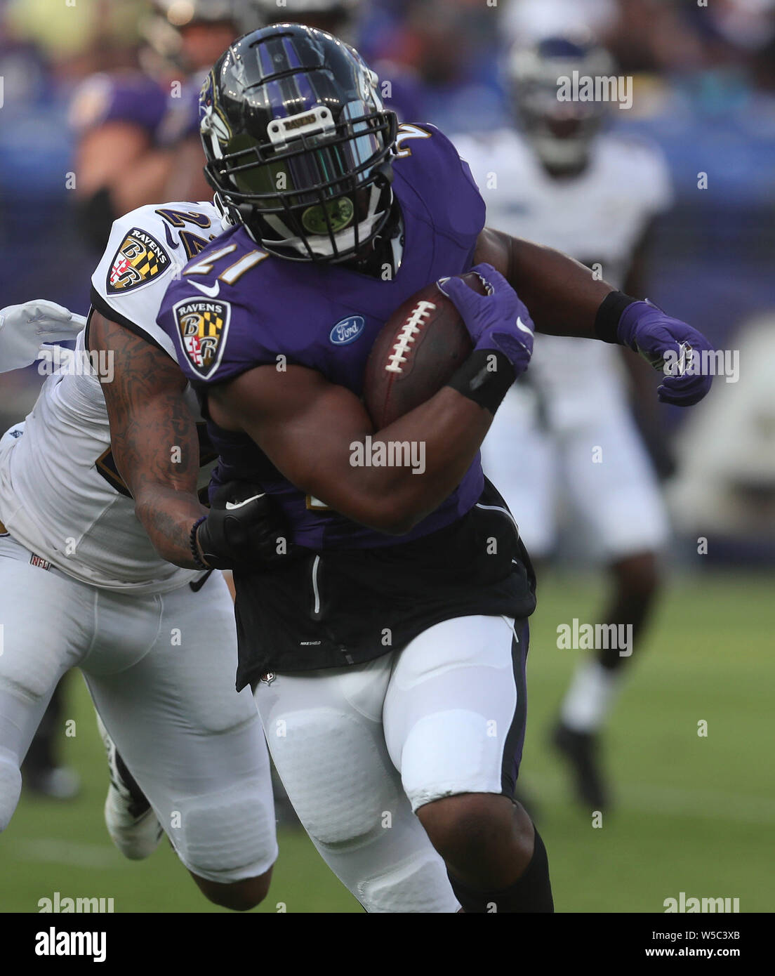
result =
M584 524L595 559L662 549L668 516L626 401L591 407L575 425L544 429L528 393L512 389L504 399L482 444L482 467L531 556L550 555L560 502Z

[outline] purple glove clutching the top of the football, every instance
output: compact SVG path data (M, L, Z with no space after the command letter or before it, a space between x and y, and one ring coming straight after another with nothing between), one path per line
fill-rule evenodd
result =
M479 295L462 278L442 278L439 289L461 313L475 349L498 349L509 358L514 375L527 369L533 354L533 320L506 278L492 264L471 268L487 289Z

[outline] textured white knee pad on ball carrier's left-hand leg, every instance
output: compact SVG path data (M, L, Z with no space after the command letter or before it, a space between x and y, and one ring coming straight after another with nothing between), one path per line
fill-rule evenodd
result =
M397 774L363 719L309 709L281 716L266 733L283 786L313 841L340 848L383 830L384 815L400 797Z

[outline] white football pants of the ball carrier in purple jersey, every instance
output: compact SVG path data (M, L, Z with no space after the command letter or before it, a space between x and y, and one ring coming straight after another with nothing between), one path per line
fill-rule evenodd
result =
M294 809L367 912L460 905L414 811L458 793L512 793L525 719L523 655L505 617L460 617L402 651L259 682L266 740Z

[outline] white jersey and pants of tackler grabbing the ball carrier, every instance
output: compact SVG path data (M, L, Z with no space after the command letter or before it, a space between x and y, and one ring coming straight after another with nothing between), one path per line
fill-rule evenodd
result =
M172 275L222 229L210 203L128 214L113 224L93 304L174 360L158 307ZM13 324L0 320L0 369L35 355L9 337ZM52 375L0 442L0 829L52 690L78 666L185 867L212 901L250 908L277 846L261 722L250 691L234 691L231 598L221 573L179 568L151 546L111 454L102 383L121 363L87 359L85 347L81 332L74 356L44 350L40 368ZM204 446L202 486L213 460Z

